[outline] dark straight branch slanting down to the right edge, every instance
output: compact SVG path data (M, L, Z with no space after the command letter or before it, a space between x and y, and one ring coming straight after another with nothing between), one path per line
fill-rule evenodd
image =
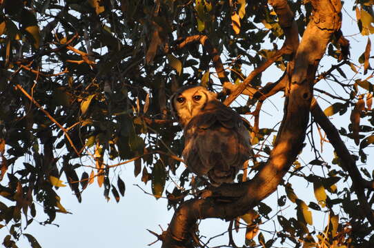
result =
M342 163L342 169L348 172L349 176L351 177L353 189L357 194L357 198L360 202L362 210L364 211L364 214L368 221L371 223L371 226L374 227L374 211L368 204L364 192L365 187L367 185L370 185L370 182L362 178L360 171L357 169L355 159L353 159L351 153L348 151L346 145L342 141L342 138L340 138L339 132L321 110L321 107L319 107L315 99L313 99L311 104L311 112L315 121L322 127L322 129L326 133L328 141L330 141L331 145L333 145L337 156L339 156L340 163Z

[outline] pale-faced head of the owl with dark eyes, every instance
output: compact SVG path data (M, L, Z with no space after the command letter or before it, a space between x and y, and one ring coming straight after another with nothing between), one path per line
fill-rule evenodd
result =
M181 87L170 98L171 111L177 121L184 127L191 118L204 110L208 101L217 101L213 92L202 86Z

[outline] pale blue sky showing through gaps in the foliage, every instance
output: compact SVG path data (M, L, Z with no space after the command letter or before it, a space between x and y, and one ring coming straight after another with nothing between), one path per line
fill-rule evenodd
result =
M361 37L361 35L350 37L360 31L355 23L355 12L351 11L351 7L346 7L345 10L349 12L351 17L348 17L346 12L343 11L343 33L351 41L351 58L353 59L353 63L358 64L357 58L362 54L362 52L364 52L367 37ZM269 45L268 48L270 49L272 46ZM330 68L331 62L322 61L322 64L323 63L325 63L326 66L319 70L319 72L326 71ZM333 64L336 63L336 61L333 61ZM252 69L253 68L248 68L244 71L244 74L249 74ZM344 69L345 72L350 71L348 66ZM264 72L262 81L263 83L275 81L281 74L282 72L273 66ZM319 82L317 87L329 89L326 81ZM328 106L328 103L324 101L319 101L319 104L323 106L323 109ZM276 105L276 107L274 105ZM283 116L282 94L277 94L276 97L272 97L271 103L270 101L266 101L263 110L266 110L266 113L268 114L262 112L260 116L260 125L266 123L266 127L268 127L269 123L276 124L281 121ZM339 118L338 114L333 117L337 126L343 126L348 129L348 114L346 114L344 118ZM252 120L250 121L253 123ZM316 141L319 143L319 137L316 137ZM319 147L319 145L317 145L317 147ZM349 143L348 148L352 147L353 144ZM324 158L327 162L331 162L332 149L331 145L328 143L325 143L324 145ZM299 162L302 163L302 165L305 165L313 159L313 154L311 154L310 149L306 147ZM370 159L369 156L368 161L370 161ZM24 232L35 236L43 248L146 247L147 244L156 240L155 236L148 233L146 229L161 233L159 225L161 225L163 229L167 229L167 225L170 222L174 211L173 209L167 211L166 199L160 198L159 200L155 200L153 196L144 194L144 192L135 186L135 184L138 184L140 187L145 189L146 192L152 192L150 189L150 182L148 182L147 185L144 185L144 183L141 182L141 175L137 178L133 178L133 169L134 167L132 163L122 165L121 167L121 178L126 183L126 193L119 203L116 203L113 198L107 203L103 196L104 189L97 186L96 180L93 185L89 185L83 192L81 204L78 203L77 198L72 194L69 187L60 188L57 191L57 194L61 196L61 204L68 211L72 212L72 214L57 214L54 223L59 225L59 227L55 225L42 226L34 222ZM367 167L367 169L371 172L373 166L371 168ZM311 200L315 201L315 198L313 194L313 185L309 185L308 188L306 188L306 186L308 186L306 185L306 182L301 180L296 184L293 183L293 188L295 189L297 196L300 196L300 198L308 204ZM174 185L166 184L166 188L169 189L169 191L172 190L173 187ZM277 207L275 207L275 205L277 205L276 194L277 193L275 192L275 194L265 200L265 203L270 205L270 207L273 207L274 210L270 216L273 216L275 211L279 210L279 208L277 209ZM283 187L279 187L279 195L283 194ZM3 200L3 198L1 200ZM285 211L282 211L285 216L287 216L287 212L295 214L295 205L293 205L289 200L287 200L286 205L283 208L285 207L288 207ZM36 219L40 222L46 220L45 216L41 214L42 211L43 210L39 207ZM263 221L264 220L265 219L263 219ZM276 218L274 220L276 221ZM318 215L313 211L313 222L317 229L324 229L326 221L326 214ZM226 231L227 228L228 223L225 223L223 220L204 220L199 227L201 233L208 237L221 234ZM270 220L261 228L272 229L273 220ZM0 229L0 240L3 240L4 236L7 234L8 231L6 230L6 227ZM269 237L266 236L265 233L264 235L265 237ZM235 239L237 245L243 245L244 230L235 236L237 237ZM226 234L223 238L217 238L210 241L209 247L214 244L227 244L227 237ZM266 238L266 240L268 240L268 238ZM23 237L20 238L17 245L19 245L19 247L30 247L28 240ZM155 245L152 245L152 247L161 247L161 242L157 242ZM284 243L282 247L288 246Z

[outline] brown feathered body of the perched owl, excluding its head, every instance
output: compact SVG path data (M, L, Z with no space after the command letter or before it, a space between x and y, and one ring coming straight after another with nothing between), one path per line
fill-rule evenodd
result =
M235 111L210 101L184 128L187 166L213 185L230 183L250 157L248 130Z

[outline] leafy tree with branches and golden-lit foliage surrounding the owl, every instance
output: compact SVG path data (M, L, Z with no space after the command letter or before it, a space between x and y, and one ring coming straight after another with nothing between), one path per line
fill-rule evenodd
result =
M40 211L43 224L67 213L58 194L66 184L82 204L94 182L118 202L126 182L117 168L134 163L134 176L175 210L153 233L163 247L204 247L205 218L229 221L228 247L241 227L248 247L373 247L373 1L342 4L0 0L3 245L26 236L39 247L25 228ZM270 70L274 82L264 80ZM208 87L247 120L253 154L237 183L209 187L180 169L184 138L168 98L182 85ZM260 124L278 92L284 115L273 118L282 123ZM311 161L297 160L303 147ZM313 201L295 194L295 178ZM276 189L277 203L263 203ZM293 216L278 211L287 201ZM312 212L328 216L325 229L313 227ZM259 229L270 217L277 228L266 236Z

